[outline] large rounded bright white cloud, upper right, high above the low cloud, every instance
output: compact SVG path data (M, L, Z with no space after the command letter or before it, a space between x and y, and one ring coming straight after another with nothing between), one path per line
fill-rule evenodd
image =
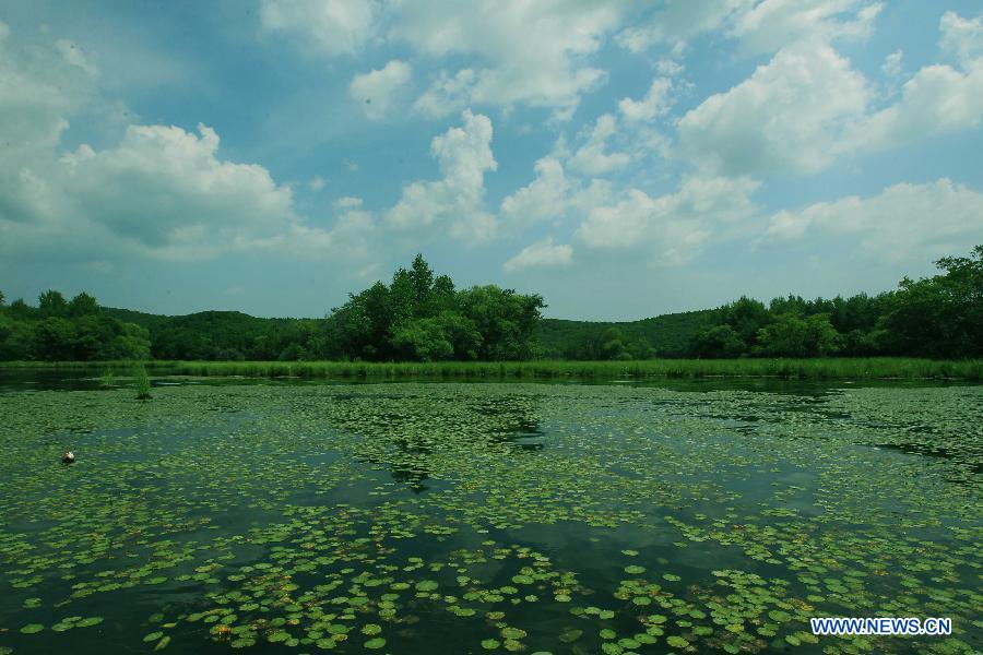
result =
M816 172L832 162L834 144L863 118L869 96L846 59L826 44L802 41L687 112L679 147L724 175Z

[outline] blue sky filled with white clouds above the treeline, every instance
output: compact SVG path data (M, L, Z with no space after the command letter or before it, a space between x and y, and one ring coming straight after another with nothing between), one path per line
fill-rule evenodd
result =
M983 243L983 11L10 0L0 290L321 317L421 252L545 315L893 288Z

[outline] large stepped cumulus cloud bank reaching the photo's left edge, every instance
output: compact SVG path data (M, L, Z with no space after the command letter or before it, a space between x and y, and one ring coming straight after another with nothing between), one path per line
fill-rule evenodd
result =
M7 257L189 259L270 247L293 253L329 235L336 243L353 234L354 218L340 222L342 229L310 225L296 213L288 186L258 164L223 158L218 134L203 124L198 133L129 126L115 145L63 152L70 117L104 102L94 85L98 71L70 41L23 51L29 58L0 56L0 251Z

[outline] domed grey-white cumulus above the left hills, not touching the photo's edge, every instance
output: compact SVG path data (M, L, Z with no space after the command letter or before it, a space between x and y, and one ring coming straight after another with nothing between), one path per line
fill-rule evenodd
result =
M131 126L115 148L62 158L60 189L79 214L150 253L247 248L295 219L293 196L262 166L217 157L218 135Z

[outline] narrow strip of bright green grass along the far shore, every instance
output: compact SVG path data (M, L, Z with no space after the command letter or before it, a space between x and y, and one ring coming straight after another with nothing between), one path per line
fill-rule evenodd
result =
M110 369L129 362L2 362L4 369ZM155 374L247 378L778 378L783 380L983 380L983 360L904 357L817 359L650 359L644 361L149 361Z

